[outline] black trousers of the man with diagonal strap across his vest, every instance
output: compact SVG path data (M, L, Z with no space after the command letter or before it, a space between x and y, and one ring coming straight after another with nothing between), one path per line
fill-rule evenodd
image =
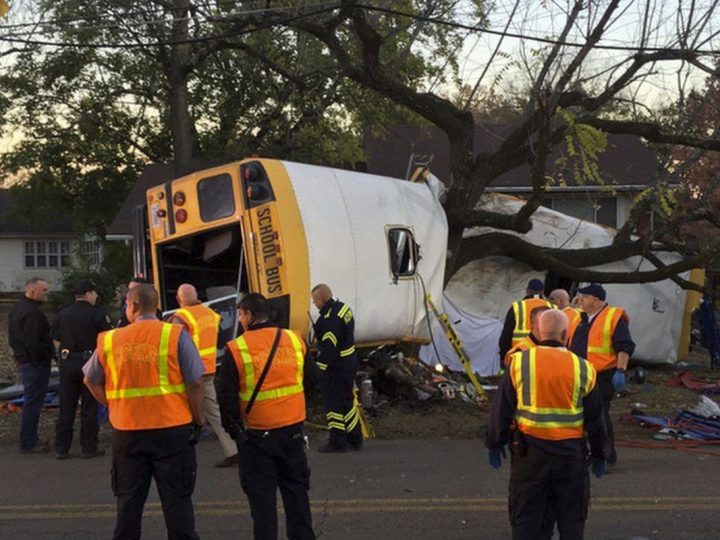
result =
M285 508L287 537L315 540L310 514L310 468L302 427L258 432L238 441L240 485L250 503L255 540L276 540L277 490Z

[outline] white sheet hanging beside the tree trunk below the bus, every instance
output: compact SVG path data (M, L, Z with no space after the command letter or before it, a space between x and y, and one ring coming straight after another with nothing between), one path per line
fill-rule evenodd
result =
M473 371L482 376L495 375L500 370L498 340L502 332L502 323L495 318L474 315L457 306L447 295L436 302L437 308L447 313L450 322L462 341L470 357ZM440 323L433 319L433 340L440 355L440 362L455 371L464 371L460 359L455 354ZM437 364L437 355L432 344L420 348L420 359Z

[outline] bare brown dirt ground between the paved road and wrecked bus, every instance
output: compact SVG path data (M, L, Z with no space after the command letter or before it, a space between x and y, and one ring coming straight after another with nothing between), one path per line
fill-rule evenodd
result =
M19 382L17 369L7 343L8 306L0 306L0 381ZM692 352L685 360L691 364L696 378L717 381L720 372L711 371L709 357L703 352ZM624 396L613 401L613 416L619 421L633 409L640 409L651 416L674 416L679 409L693 407L699 400L699 394L685 389L668 386L668 379L681 366L645 366L647 380L644 384L629 384ZM492 397L492 394L491 394ZM381 406L376 411L367 411L367 416L378 438L477 438L481 436L487 424L490 403L479 405L465 403L459 398L450 401L408 402L397 401ZM52 441L57 411L49 409L43 412L40 422L42 439ZM311 431L320 430L313 425L322 425L324 415L316 404L309 407ZM621 425L616 422L618 437L650 439L654 430L633 425ZM0 409L0 445L16 444L20 426L20 414ZM102 439L109 436L107 427L103 427Z

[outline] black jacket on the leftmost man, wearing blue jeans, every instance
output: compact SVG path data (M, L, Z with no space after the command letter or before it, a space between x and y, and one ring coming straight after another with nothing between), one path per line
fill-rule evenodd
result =
M18 362L50 363L53 356L50 324L40 302L23 296L10 310L9 341Z

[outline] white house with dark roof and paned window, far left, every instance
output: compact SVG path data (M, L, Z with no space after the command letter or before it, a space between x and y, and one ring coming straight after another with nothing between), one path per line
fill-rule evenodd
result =
M62 273L77 264L79 253L88 262L102 261L97 239L78 241L69 218L50 217L42 223L23 219L9 189L0 189L0 293L17 293L31 277L60 285Z

